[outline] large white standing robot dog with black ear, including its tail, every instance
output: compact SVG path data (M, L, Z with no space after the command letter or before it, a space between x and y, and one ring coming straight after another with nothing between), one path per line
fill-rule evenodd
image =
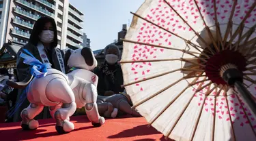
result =
M25 130L38 128L38 121L33 118L40 114L44 106L49 106L53 119L56 120L56 130L59 134L71 132L74 124L69 117L76 108L85 106L85 112L94 127L104 124L104 117L98 113L97 83L98 77L91 73L97 66L97 60L90 48L76 49L67 52L68 66L73 71L65 75L61 71L48 68L47 75L40 78L27 78L23 82L8 81L8 85L27 89L27 98L31 103L20 116L23 121L21 127Z

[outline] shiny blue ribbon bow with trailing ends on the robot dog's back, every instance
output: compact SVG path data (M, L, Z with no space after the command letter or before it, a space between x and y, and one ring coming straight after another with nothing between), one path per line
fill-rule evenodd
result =
M21 53L20 57L24 58L23 63L29 64L31 66L31 75L33 75L36 78L45 77L47 75L47 68L51 64L43 64L38 59L36 59L27 49L23 49L25 53ZM30 85L30 84L29 84ZM8 117L12 117L14 113L18 110L21 104L26 100L27 98L27 89L29 85L26 87L26 89L23 90L23 93L20 94L20 100L18 103L15 104L10 110L8 110Z

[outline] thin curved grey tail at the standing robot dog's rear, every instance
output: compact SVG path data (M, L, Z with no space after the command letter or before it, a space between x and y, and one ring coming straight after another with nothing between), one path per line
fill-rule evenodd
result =
M29 85L32 79L33 79L33 75L31 75L30 77L27 76L26 79L20 82L6 81L6 84L16 89L24 89L25 87L27 87L27 85Z

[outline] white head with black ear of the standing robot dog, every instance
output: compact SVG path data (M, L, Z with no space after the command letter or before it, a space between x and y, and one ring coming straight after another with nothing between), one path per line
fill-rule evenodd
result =
M68 54L70 54L70 56ZM82 49L76 49L74 51L68 50L66 55L69 56L68 66L70 68L76 67L91 71L98 65L94 53L89 47L83 47Z

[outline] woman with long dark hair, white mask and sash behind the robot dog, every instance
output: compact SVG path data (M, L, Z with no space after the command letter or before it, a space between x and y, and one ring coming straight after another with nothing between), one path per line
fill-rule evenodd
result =
M17 73L18 80L23 81L26 77L31 76L31 66L23 63L23 58L19 55L24 52L23 49L27 49L36 59L42 63L50 63L51 68L55 68L62 73L66 73L67 64L64 64L64 54L61 49L57 48L57 26L53 18L42 17L39 18L31 32L29 43L18 51L17 57ZM17 96L17 102L24 89L20 89ZM14 121L20 121L20 112L29 106L29 101L20 106L14 115ZM43 112L35 117L35 119L45 119L51 117L48 113L48 108L45 107Z

